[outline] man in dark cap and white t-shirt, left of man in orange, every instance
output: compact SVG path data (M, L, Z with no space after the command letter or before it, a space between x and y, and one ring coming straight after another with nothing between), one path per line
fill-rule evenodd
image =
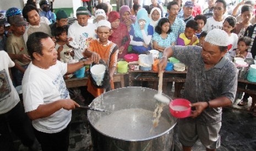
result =
M77 20L68 28L68 37L74 39L79 44L79 49L75 51L74 58L79 60L83 56L85 48L89 48L90 39L96 39L96 26L90 22L89 11L85 7L79 7L77 9Z

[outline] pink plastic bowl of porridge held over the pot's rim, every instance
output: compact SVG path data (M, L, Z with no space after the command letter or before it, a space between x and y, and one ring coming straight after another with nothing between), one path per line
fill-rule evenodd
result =
M184 98L177 98L169 103L169 110L173 117L186 118L190 115L190 102Z

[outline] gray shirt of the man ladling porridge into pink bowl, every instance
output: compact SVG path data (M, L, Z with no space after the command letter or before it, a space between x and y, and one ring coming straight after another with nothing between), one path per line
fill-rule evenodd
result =
M222 57L214 67L205 69L201 57L201 47L174 46L173 57L188 66L184 98L192 103L210 101L225 96L232 102L237 90L236 66ZM195 120L201 124L210 125L221 121L222 108L205 109ZM188 118L188 120L191 118Z

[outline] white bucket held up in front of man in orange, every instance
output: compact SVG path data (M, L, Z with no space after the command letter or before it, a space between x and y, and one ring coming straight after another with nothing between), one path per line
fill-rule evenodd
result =
M106 66L104 65L94 65L90 69L91 77L95 80L98 86L102 85L102 80L106 71Z

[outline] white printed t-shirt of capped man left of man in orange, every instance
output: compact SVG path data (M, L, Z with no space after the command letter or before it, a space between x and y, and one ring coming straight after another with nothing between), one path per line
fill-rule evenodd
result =
M78 22L70 25L68 28L68 37L72 37L75 42L79 44L79 50L75 51L74 59L81 59L83 56L83 51L88 47L88 44L91 39L96 39L96 26L88 22L87 26L80 26Z

